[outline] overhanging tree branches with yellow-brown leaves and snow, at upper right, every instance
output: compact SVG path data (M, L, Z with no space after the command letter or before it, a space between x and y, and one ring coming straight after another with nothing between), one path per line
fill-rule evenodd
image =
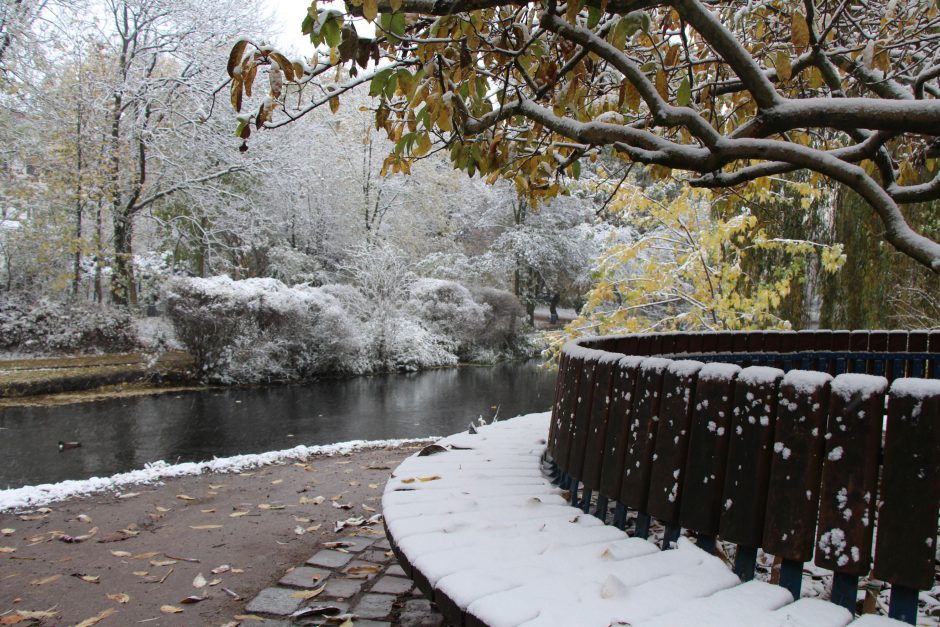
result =
M940 198L935 0L347 4L343 14L313 2L304 21L328 58L235 45L236 108L270 66L268 98L241 118L244 138L252 125L335 109L368 84L377 126L395 142L387 171L444 147L456 167L514 180L534 202L604 147L661 176L691 172L703 187L809 170L855 190L887 241L940 272L940 244L901 211ZM375 39L357 35L361 19Z

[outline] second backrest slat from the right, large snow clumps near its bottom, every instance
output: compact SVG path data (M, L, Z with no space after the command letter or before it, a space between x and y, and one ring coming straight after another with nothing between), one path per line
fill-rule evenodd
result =
M887 381L843 374L831 390L815 562L861 576L871 564Z

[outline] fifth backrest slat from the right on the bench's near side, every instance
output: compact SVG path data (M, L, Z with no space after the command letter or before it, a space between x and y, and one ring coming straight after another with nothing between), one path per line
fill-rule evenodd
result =
M706 364L695 387L679 521L705 535L718 533L734 378L740 371L729 364Z

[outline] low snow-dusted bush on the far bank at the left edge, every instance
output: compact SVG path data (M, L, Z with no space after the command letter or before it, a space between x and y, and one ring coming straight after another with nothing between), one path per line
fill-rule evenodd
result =
M119 308L0 299L0 349L34 354L119 352L137 348L131 316Z

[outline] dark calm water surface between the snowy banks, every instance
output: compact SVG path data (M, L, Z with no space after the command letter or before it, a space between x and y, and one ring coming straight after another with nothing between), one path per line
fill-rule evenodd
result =
M59 407L0 409L0 489L108 476L165 460L347 440L449 435L478 416L546 411L554 372L535 362ZM58 452L59 440L80 441Z

